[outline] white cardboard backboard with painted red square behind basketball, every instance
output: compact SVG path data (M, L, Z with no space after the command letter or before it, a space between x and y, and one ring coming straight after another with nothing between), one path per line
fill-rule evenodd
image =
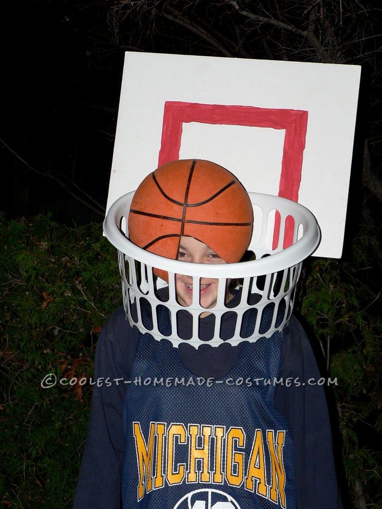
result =
M127 52L107 210L157 166L208 159L316 216L340 258L361 68Z

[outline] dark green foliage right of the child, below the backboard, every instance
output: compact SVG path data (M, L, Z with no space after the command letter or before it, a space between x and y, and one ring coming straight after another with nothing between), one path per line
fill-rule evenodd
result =
M342 462L354 507L382 505L382 317L378 228L363 226L347 261L312 259L299 310L320 345L332 379ZM369 231L368 231L369 230ZM335 437L337 435L335 433Z

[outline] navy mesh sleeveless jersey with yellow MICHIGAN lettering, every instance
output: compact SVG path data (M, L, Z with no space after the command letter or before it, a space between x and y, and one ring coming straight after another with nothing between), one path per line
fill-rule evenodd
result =
M140 334L124 407L124 509L295 509L293 441L273 398L281 333L197 377Z

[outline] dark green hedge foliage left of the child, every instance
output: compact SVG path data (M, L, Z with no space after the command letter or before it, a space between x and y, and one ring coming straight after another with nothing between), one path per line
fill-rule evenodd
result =
M100 224L0 220L3 477L10 507L71 505L91 388L43 389L49 373L89 377L98 333L120 303L115 249Z

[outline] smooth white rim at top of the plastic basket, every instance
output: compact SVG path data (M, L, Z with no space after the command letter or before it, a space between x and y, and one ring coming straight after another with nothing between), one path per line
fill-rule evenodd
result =
M266 201L275 203L282 207L287 207L288 215L294 212L298 216L298 222L303 224L304 235L294 244L278 252L270 254L265 258L251 260L248 262L230 263L230 264L197 264L170 258L161 257L158 254L151 253L133 244L120 231L119 224L124 217L128 220L129 208L135 191L128 192L116 200L108 210L103 221L103 231L108 241L110 241L119 251L126 256L144 263L150 267L165 270L171 273L187 273L194 277L210 278L239 278L248 276L259 276L270 274L292 267L308 258L318 247L321 240L321 232L315 216L303 205L288 200L286 198L272 194L249 192L252 205L259 206L259 202ZM255 246L252 246L255 248ZM251 244L248 248L251 250ZM187 270L184 265L187 263Z

